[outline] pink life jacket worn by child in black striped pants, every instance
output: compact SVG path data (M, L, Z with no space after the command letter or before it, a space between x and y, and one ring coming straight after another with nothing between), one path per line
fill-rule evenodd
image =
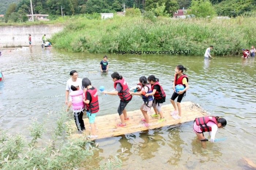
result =
M76 90L69 93L69 96L72 97L72 107L73 110L81 110L84 108L83 103L83 90Z

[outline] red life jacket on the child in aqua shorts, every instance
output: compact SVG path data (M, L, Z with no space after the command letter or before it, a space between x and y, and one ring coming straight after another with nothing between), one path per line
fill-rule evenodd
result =
M88 89L87 92L90 93L91 101L89 104L85 104L86 110L90 113L96 113L99 111L99 101L98 101L97 89L96 88L94 88L93 90ZM87 95L84 94L84 96L85 96L85 100L86 100Z

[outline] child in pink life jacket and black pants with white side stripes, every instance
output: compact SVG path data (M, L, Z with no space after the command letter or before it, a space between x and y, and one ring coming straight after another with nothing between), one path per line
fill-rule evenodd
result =
M71 96L70 103L74 112L75 123L77 129L81 132L85 130L83 121L84 103L83 103L83 90L77 90L75 86L71 85L72 92L69 93Z

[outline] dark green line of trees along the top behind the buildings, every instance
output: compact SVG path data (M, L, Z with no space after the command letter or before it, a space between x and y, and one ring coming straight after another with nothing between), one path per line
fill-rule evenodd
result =
M5 6L15 1L7 0ZM61 15L61 7L64 15L77 15L123 11L123 4L125 4L125 8L154 11L155 15L160 10L166 16L172 16L174 11L182 8L189 8L193 14L200 17L251 15L251 12L256 9L256 0L32 0L32 2L34 13L49 14L50 16ZM0 12L3 13L3 9L1 10ZM26 15L30 13L30 0L19 0L8 6L4 20L25 22Z

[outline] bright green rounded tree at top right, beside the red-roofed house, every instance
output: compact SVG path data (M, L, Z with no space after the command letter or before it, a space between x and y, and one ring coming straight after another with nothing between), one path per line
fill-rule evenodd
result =
M191 11L189 13L194 14L196 17L207 17L216 15L215 9L209 0L192 0Z

